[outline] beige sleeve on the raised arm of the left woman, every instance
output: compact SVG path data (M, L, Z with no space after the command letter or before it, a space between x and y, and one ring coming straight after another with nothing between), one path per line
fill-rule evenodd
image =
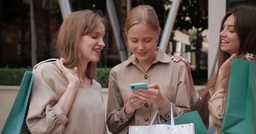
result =
M54 70L40 65L35 70L29 111L26 119L32 134L61 134L68 119L56 105L58 97L53 89Z

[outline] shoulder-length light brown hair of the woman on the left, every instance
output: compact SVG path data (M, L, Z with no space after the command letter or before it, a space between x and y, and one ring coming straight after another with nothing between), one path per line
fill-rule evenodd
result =
M64 65L68 68L77 66L79 76L81 75L80 72L82 70L79 59L79 41L82 36L91 33L99 21L105 24L105 20L99 11L76 11L64 19L58 31L57 47L61 57L65 59ZM95 70L96 63L89 62L84 76L92 80L95 75Z

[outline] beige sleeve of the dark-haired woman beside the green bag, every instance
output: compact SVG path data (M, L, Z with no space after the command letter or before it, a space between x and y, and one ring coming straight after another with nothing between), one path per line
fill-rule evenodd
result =
M214 91L209 90L211 98L208 101L208 109L213 120L213 124L217 127L222 126L225 110L223 108L223 97L225 90L223 88Z

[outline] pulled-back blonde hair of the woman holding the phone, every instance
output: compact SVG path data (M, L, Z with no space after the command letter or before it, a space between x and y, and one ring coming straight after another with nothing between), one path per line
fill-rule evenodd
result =
M125 34L127 35L127 31L131 28L131 26L139 23L144 23L157 33L160 32L157 13L150 5L139 5L128 13L125 21Z

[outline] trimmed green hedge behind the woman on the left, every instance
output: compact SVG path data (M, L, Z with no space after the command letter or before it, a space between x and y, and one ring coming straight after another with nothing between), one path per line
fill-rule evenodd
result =
M0 68L0 85L20 85L24 73L31 71L30 68ZM110 68L97 68L95 80L102 88L108 87Z

